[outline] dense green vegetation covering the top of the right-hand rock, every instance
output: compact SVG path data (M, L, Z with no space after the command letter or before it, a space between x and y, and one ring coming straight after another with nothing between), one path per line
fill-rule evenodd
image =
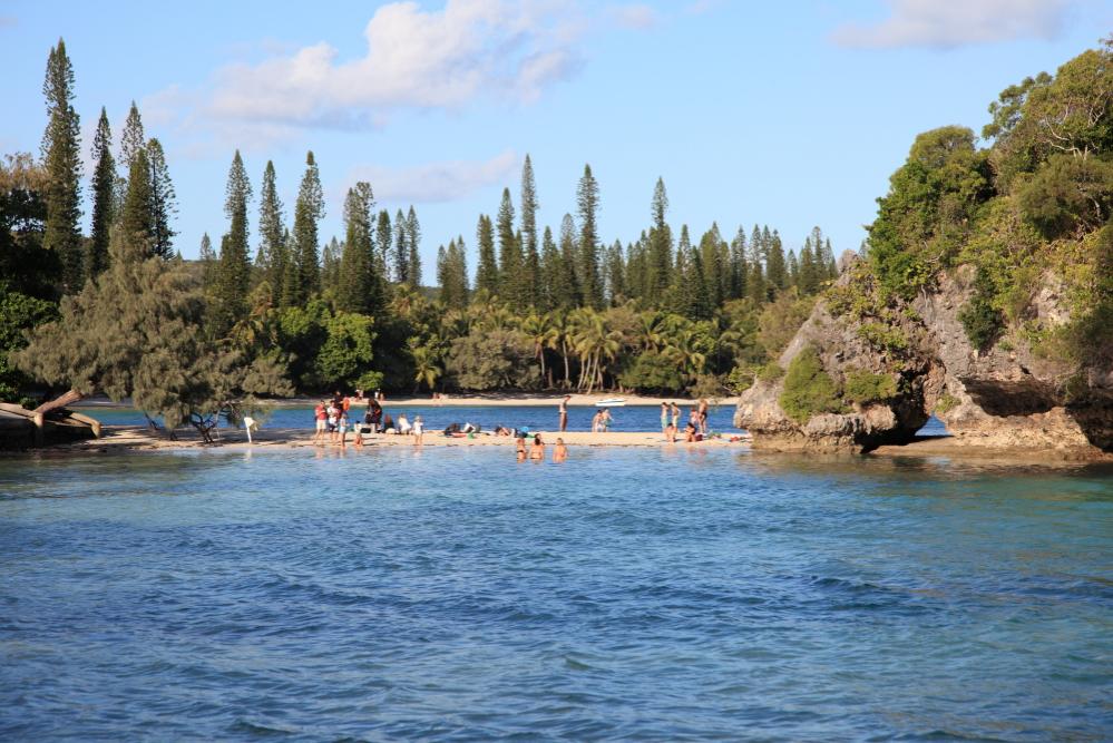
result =
M974 292L960 320L975 348L1012 343L1006 329L1021 327L1048 355L1080 364L1113 359L1111 45L1004 90L982 131L986 148L964 127L917 137L878 199L861 281L834 293L836 310L885 323L899 299L970 265ZM1067 290L1066 327L1029 316L1048 275ZM900 341L880 331L868 340L899 351Z

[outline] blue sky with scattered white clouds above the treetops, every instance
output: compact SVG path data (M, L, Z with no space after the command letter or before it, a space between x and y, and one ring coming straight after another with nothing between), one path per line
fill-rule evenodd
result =
M42 72L64 37L84 149L101 106L118 136L138 102L167 150L186 257L226 229L235 148L256 195L274 160L287 221L313 149L322 235L342 236L343 194L370 180L391 214L416 206L427 281L457 234L475 267L477 216L504 186L517 204L526 153L554 231L589 163L607 243L645 228L662 176L670 222L694 238L756 222L797 247L820 225L837 252L857 248L917 133L979 130L1000 89L1113 30L1097 0L154 8L0 0L0 153L38 153Z

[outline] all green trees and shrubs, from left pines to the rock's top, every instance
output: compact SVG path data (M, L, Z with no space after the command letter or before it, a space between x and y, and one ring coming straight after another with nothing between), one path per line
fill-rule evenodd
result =
M1106 43L1006 89L989 107L988 147L958 126L917 137L878 199L867 260L838 286L818 227L799 251L768 226L731 237L716 224L675 228L663 179L633 239L599 235L603 188L589 165L569 188L575 208L539 225L528 156L517 199L505 188L494 214L478 215L473 246L469 228L439 247L427 286L416 209L379 208L373 184L348 190L342 238L322 239L313 153L292 211L273 164L256 202L234 153L218 244L206 234L199 260L183 261L169 167L134 104L116 155L101 110L85 228L76 80L59 41L41 158L0 165L0 397L43 384L104 391L197 422L251 395L336 387L706 394L783 377L782 407L806 420L892 397L914 345L901 330L916 320L906 301L960 265L974 266L960 316L977 348L1019 332L1046 353L1107 362L1111 60ZM1070 300L1066 327L1029 316L1047 275ZM836 380L813 351L777 364L820 293L860 321L859 336L894 362L891 377Z

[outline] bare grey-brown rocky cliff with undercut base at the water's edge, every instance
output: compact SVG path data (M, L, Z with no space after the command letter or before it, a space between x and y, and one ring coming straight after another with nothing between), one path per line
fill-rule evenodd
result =
M915 299L879 310L855 301L869 297L871 275L865 264L849 266L780 369L742 394L735 424L756 449L862 452L911 441L935 413L972 447L1057 457L1113 450L1113 369L1080 365L1039 340L1071 321L1062 283L1052 273L1038 277L1023 312L978 349L960 320L975 273L969 265L943 272ZM832 391L819 402L812 395L811 409L787 402L801 384L793 372L801 354L818 358L819 387Z

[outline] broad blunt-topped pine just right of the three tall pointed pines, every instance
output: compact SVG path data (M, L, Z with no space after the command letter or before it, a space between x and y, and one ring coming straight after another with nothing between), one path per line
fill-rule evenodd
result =
M371 184L360 180L344 199L344 248L336 282L336 306L345 312L374 314L379 297L374 246L371 237Z

